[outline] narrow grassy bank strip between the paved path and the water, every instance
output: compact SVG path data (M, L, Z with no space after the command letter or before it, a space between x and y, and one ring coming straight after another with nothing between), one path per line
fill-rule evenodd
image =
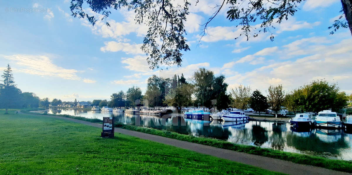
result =
M22 110L21 112L24 112L26 114L33 114L28 110ZM102 122L102 120L98 118L90 119L85 117L77 117L77 116L70 116L70 115L55 115L55 114L39 114L39 115L68 117L68 118L74 118L74 119L94 122L94 123ZM216 148L233 150L241 153L276 158L276 159L290 161L298 164L306 164L306 165L322 167L326 169L352 173L352 161L333 160L325 157L318 157L318 156L298 154L298 153L289 153L289 152L274 150L270 148L260 148L260 147L255 147L251 145L234 144L223 140L216 140L214 138L194 137L194 136L179 134L177 132L172 132L167 130L139 127L139 126L117 123L117 122L115 122L115 127L138 131L138 132L144 132L146 134L152 134L152 135L157 135L157 136L162 136L167 138L173 138L181 141L208 145Z

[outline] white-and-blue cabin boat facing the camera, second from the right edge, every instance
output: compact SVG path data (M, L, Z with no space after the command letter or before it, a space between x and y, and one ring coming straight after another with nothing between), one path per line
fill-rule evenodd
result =
M323 110L318 112L318 116L315 117L315 126L340 128L342 127L342 123L336 112L332 112L331 110Z

